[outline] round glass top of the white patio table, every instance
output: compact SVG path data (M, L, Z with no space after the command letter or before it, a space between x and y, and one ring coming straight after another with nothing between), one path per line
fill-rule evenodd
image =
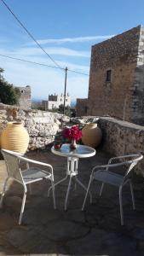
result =
M78 157L85 158L95 155L95 148L91 148L85 145L77 145L76 149L70 148L70 144L62 144L61 148L55 149L54 146L51 148L51 152L60 156L65 157Z

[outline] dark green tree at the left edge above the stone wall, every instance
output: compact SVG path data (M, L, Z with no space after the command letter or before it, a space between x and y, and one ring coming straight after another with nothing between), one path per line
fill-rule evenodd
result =
M20 90L3 79L3 68L0 67L0 102L14 105L19 102Z

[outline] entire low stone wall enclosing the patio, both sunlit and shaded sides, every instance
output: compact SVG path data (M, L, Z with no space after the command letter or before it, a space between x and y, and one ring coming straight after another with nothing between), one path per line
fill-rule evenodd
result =
M144 154L144 126L135 125L109 117L63 117L60 113L40 110L22 110L0 104L0 132L8 121L23 121L30 135L29 150L45 148L54 141L55 134L60 131L61 119L64 123L81 124L97 122L102 131L101 149L117 156L123 154ZM136 172L144 176L144 160L136 166Z

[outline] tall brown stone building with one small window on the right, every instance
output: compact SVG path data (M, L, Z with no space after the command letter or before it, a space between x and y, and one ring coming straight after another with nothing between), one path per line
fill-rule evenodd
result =
M92 46L85 108L80 101L77 115L110 115L144 124L144 29L141 26Z

